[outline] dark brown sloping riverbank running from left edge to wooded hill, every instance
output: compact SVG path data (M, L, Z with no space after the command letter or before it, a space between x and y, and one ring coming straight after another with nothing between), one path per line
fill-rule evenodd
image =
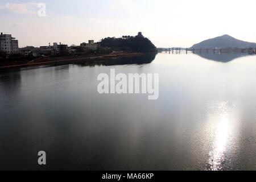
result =
M111 60L119 57L133 57L133 56L142 56L146 53L142 52L112 52L110 54L100 54L100 55L80 55L80 56L61 56L61 57L49 57L43 56L36 58L34 60L26 61L11 61L0 63L0 69L8 68L22 68L22 67L33 67L39 65L61 65L61 64L72 64L79 61L98 61L98 60Z

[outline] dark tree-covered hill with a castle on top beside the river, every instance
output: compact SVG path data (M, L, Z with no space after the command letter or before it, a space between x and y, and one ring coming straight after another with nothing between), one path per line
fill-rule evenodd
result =
M101 47L110 47L114 51L156 52L156 47L141 32L137 36L101 39Z

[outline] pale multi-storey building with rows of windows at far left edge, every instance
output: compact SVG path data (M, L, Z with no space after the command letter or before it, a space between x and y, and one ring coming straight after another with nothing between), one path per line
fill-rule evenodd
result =
M18 40L15 40L11 34L0 35L0 51L5 51L7 54L19 53Z

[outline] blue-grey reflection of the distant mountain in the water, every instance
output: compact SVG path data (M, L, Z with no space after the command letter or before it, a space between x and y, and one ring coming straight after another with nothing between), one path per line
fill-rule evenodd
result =
M248 56L247 53L196 53L200 57L203 57L208 60L220 61L220 62L229 62L238 57Z

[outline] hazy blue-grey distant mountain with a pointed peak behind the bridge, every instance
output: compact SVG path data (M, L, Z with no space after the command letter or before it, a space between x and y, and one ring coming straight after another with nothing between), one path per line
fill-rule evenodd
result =
M194 44L191 48L256 48L256 43L238 40L229 35L218 36L217 38L204 40L198 44Z

